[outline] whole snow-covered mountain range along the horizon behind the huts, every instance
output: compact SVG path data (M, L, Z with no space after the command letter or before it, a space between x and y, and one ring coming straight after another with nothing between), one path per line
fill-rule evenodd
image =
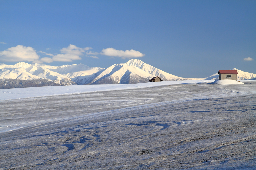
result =
M256 80L256 74L236 68L237 80ZM178 80L217 80L218 73L205 78L178 77L157 69L141 60L133 59L126 63L114 64L109 68L89 67L84 64L49 66L46 64L28 64L20 62L15 65L0 64L0 81L15 80L48 80L57 85L82 84L134 84L148 82L159 76L164 81ZM38 83L37 83L38 84Z

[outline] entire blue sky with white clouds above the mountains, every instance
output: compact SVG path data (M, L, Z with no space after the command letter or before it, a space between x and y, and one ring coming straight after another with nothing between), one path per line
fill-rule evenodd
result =
M0 1L0 63L256 73L256 1Z

